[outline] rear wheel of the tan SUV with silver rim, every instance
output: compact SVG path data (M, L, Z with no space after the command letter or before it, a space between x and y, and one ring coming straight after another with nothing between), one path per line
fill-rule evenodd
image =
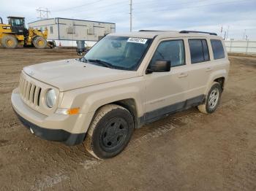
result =
M211 114L215 112L219 106L221 95L222 87L218 82L214 82L213 85L211 85L211 89L208 91L208 94L206 95L205 103L197 106L197 109L205 114Z

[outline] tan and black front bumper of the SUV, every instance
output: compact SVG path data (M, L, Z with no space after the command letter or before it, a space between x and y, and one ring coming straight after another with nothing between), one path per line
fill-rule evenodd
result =
M11 100L19 120L36 136L49 141L61 141L69 146L83 142L91 114L46 116L24 104L18 88L13 90Z

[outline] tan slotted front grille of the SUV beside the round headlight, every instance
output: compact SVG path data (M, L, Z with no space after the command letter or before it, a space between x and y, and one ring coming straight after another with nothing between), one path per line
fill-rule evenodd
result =
M20 95L24 101L34 104L34 106L39 106L40 104L40 95L42 88L34 85L33 82L28 80L21 75L20 77Z

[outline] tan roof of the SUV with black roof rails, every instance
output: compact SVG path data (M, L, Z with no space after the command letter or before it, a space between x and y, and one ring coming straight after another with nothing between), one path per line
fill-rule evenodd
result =
M153 39L155 36L159 36L159 38L174 38L174 37L204 37L211 39L222 39L221 36L217 36L214 33L205 34L205 32L200 31L135 31L129 33L115 33L110 34L110 36L128 36L128 37L138 37L138 38L146 38Z

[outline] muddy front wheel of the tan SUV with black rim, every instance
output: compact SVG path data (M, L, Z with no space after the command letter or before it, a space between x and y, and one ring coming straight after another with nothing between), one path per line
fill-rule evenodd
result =
M95 114L84 146L98 159L114 157L127 147L133 130L132 114L124 107L108 104Z

